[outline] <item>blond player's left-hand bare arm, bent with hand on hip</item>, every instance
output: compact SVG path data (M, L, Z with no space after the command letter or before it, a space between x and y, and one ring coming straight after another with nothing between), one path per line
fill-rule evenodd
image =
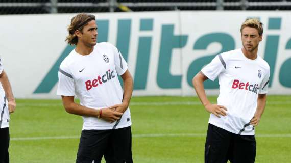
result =
M215 116L220 118L220 115L226 116L227 113L225 112L227 109L222 105L211 104L208 100L203 82L207 80L207 76L205 76L201 71L192 79L192 84L196 90L196 93L204 105L205 109L209 112L214 114Z

